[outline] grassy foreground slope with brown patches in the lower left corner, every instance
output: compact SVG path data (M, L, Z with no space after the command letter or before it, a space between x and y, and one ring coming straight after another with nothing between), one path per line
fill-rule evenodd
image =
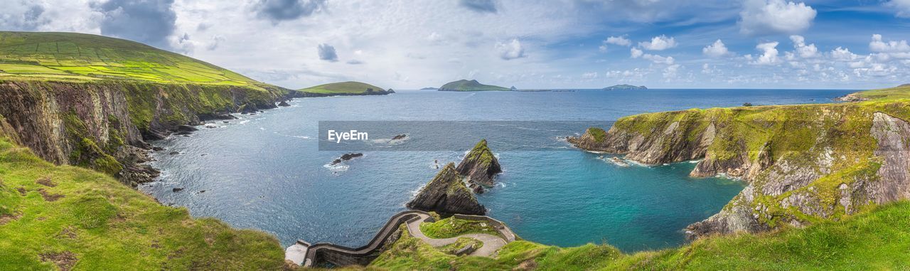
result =
M283 256L274 236L194 219L0 135L0 270L277 270Z

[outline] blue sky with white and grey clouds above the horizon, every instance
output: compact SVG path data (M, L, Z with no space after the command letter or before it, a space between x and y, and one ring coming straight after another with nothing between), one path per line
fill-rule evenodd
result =
M0 30L125 38L288 88L910 83L910 0L4 0Z

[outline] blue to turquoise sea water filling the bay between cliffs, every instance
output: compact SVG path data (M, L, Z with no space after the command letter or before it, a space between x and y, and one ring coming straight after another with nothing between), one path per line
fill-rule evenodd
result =
M609 243L627 252L678 246L681 229L720 210L738 181L690 178L694 164L616 166L571 148L560 136L623 115L693 107L831 102L845 90L647 90L453 93L399 91L385 96L297 99L290 107L243 115L190 137L156 142L160 180L140 189L163 204L187 206L232 226L258 228L288 246L297 239L359 246L437 172L434 160L464 151L369 151L342 167L344 151L320 151L319 121L565 121L546 129L488 135L504 173L480 195L489 215L521 237L548 245ZM419 138L420 131L402 131ZM533 150L506 146L531 144ZM403 144L431 145L418 139ZM501 146L501 150L497 150ZM470 146L465 146L467 149ZM167 153L179 151L180 155ZM183 187L174 193L172 188ZM205 190L204 193L199 193Z

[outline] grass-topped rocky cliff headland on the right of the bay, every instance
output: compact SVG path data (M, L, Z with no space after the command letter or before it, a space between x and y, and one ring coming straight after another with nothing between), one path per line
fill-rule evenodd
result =
M905 94L906 90L895 93ZM619 119L570 142L647 165L702 159L692 176L747 182L693 236L840 220L910 198L910 100L692 109Z

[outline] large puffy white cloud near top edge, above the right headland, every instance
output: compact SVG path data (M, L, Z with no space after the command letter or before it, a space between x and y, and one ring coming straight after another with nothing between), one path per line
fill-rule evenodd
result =
M745 35L794 34L809 29L817 12L805 3L784 0L748 0L740 13Z

